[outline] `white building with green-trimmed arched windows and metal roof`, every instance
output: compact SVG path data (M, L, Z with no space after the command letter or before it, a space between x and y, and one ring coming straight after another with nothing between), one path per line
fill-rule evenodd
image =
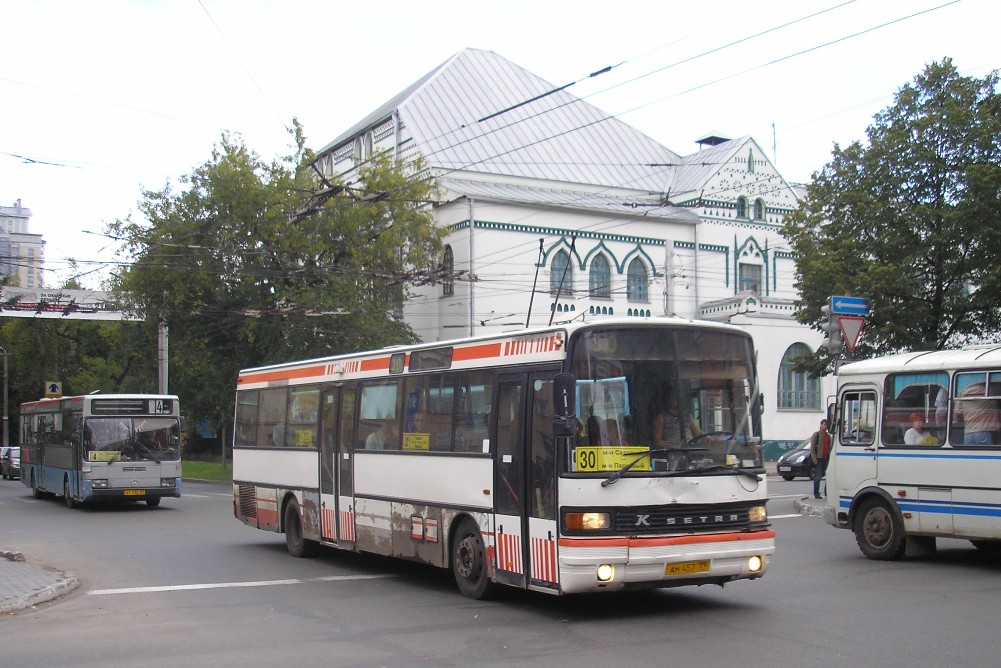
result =
M317 152L350 182L376 152L423 157L442 263L459 279L404 307L424 341L615 314L730 321L754 336L770 458L809 437L833 381L790 361L821 333L793 317L779 229L797 206L751 137L681 155L495 53L466 49Z

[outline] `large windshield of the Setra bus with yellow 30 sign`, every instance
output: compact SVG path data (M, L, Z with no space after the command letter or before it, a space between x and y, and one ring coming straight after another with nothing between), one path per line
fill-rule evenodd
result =
M609 328L582 332L572 356L582 430L566 472L615 472L638 458L631 472L762 467L749 338Z

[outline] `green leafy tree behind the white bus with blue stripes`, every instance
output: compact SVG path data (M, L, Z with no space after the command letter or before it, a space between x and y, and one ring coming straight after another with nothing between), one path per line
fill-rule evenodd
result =
M878 113L868 141L835 145L783 229L797 260L797 318L818 327L832 294L871 308L857 357L956 347L1001 324L1001 97L997 72L926 66ZM815 370L828 360L819 353Z

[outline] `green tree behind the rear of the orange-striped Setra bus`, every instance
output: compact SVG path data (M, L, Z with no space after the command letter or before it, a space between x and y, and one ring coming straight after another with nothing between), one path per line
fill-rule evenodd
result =
M131 262L114 289L169 331L170 391L216 427L239 369L410 342L401 306L440 251L420 164L376 157L346 187L317 179L294 128L292 155L261 160L224 135L207 162L146 191L142 220L117 220Z

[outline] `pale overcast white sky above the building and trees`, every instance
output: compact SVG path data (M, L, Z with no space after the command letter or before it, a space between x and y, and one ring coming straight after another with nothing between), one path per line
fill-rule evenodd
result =
M107 223L223 133L270 160L297 118L317 150L466 47L683 155L751 135L805 183L926 64L1001 68L999 24L996 0L2 0L0 205L31 209L46 285L99 288Z

